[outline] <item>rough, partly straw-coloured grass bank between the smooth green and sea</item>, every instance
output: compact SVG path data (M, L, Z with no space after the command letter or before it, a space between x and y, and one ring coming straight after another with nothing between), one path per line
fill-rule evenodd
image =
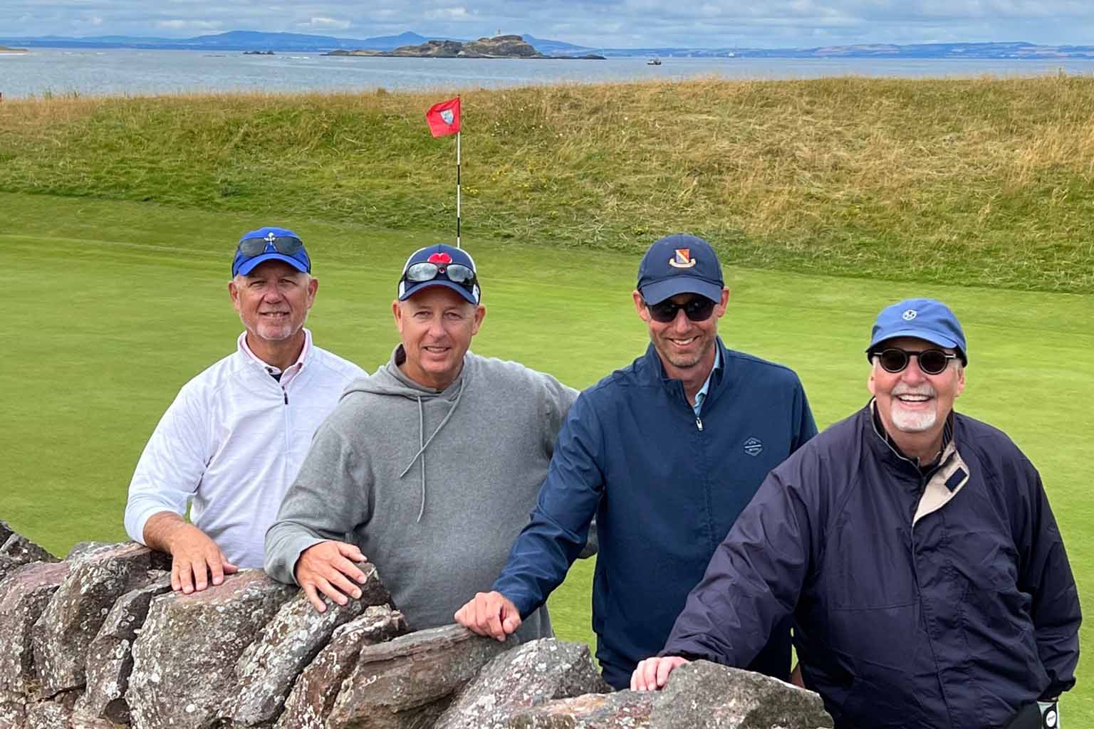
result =
M454 138L422 114L444 93L4 102L0 190L443 231ZM1094 78L464 101L469 242L636 252L685 230L748 268L1094 292Z

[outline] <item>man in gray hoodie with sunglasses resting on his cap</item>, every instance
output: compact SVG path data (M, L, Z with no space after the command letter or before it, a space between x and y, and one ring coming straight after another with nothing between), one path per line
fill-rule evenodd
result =
M401 344L316 431L266 532L266 572L319 612L323 596L360 597L368 558L412 628L451 623L527 524L577 391L468 352L480 298L465 250L415 251L392 304ZM550 634L543 608L517 635Z

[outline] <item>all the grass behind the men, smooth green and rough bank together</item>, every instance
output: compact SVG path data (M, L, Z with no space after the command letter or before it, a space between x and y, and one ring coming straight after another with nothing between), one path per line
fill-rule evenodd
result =
M321 280L316 340L369 369L386 360L398 268L450 237L452 150L426 136L431 98L0 105L0 518L58 553L125 538L148 434L234 345L226 281L245 230L301 233ZM868 398L877 309L943 298L970 342L958 407L1040 469L1092 614L1094 80L465 98L478 129L465 244L489 307L477 352L594 383L645 346L630 304L640 250L688 230L724 255L723 338L794 367L824 426ZM592 638L590 567L551 599L563 637ZM1094 726L1089 666L1069 726Z

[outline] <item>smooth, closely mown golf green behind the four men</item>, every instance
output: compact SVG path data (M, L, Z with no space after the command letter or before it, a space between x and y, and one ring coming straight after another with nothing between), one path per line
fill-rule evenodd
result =
M8 303L0 518L60 554L77 541L126 538L126 490L148 435L178 388L234 348L241 327L226 284L241 232L282 224L302 235L321 282L307 326L322 346L370 371L397 341L391 302L403 261L417 245L445 237L15 193L0 193L0 210ZM630 297L637 257L464 245L488 307L473 342L479 354L517 360L581 388L644 350ZM722 338L793 367L822 427L869 397L862 350L882 306L908 296L948 303L969 342L957 407L1010 434L1040 470L1090 612L1094 297L723 262L731 299ZM551 598L562 637L592 638L590 577L591 564L580 565ZM1089 628L1082 638L1091 645ZM1062 705L1068 726L1094 722L1094 690L1082 682L1091 665L1084 656L1080 684Z

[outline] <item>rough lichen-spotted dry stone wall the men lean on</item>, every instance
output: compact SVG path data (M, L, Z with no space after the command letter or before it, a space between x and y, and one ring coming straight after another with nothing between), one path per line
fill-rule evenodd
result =
M171 590L170 561L89 542L58 561L0 521L0 729L819 729L821 698L698 661L613 693L584 645L410 632L376 574L317 613L244 571Z

